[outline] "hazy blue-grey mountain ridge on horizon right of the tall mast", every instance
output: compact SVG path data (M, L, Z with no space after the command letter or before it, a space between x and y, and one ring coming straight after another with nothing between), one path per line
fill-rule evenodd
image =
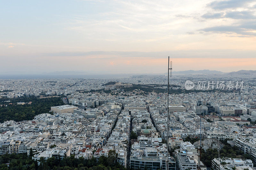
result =
M237 72L224 73L216 70L186 70L173 71L173 74L256 74L256 70L240 70Z

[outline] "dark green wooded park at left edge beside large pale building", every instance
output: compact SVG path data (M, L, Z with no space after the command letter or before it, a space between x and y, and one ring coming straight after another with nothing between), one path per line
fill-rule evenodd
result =
M8 100L11 102L4 102ZM17 104L17 102L30 101L31 104ZM1 104L3 106L0 107L0 123L6 120L32 120L38 114L49 113L51 106L63 105L64 103L60 97L36 98L31 96L13 99L1 98Z

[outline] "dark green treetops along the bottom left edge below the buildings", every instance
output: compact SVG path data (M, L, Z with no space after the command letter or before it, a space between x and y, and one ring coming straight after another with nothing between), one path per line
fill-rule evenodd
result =
M74 155L59 158L48 158L45 160L40 158L38 165L32 157L28 157L27 154L5 154L0 156L0 170L7 169L33 169L33 170L125 170L124 166L121 166L116 162L116 151L109 151L108 157L101 156L97 161L94 157L87 160L82 157L75 158ZM9 167L7 164L9 163Z

